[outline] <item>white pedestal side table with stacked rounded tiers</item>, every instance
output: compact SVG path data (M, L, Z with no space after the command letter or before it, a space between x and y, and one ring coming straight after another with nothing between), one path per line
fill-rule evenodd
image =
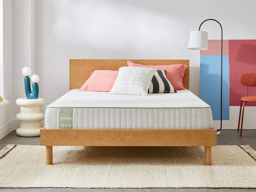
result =
M27 99L18 98L16 104L21 106L21 111L16 115L21 121L21 127L16 130L17 135L23 137L35 137L40 135L40 121L45 118L41 113L41 106L45 103L43 98Z

